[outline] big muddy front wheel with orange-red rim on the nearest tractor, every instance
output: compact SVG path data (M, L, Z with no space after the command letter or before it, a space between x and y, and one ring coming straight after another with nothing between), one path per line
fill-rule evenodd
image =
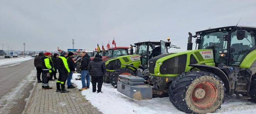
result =
M216 75L189 71L172 81L169 86L169 99L180 111L205 114L221 108L224 92L224 84Z

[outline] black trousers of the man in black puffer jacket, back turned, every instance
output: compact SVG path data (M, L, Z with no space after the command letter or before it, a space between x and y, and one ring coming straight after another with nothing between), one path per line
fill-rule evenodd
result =
M101 77L93 77L91 76L91 83L93 84L93 91L96 91L96 85L97 85L97 88L98 88L98 92L101 91L101 87L102 87L102 83L103 83L103 76Z

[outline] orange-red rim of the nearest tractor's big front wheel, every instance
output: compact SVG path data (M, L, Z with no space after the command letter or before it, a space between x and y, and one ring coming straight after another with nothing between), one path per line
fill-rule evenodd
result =
M199 83L192 91L191 98L195 106L209 108L217 101L218 91L209 81Z

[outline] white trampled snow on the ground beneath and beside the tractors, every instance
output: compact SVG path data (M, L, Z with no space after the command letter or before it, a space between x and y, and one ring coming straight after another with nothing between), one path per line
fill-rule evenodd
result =
M73 79L77 78L74 73ZM81 80L72 80L77 85L77 89L82 87ZM185 114L176 109L169 98L153 98L145 101L130 99L119 93L111 84L103 83L103 93L93 93L92 85L81 93L85 98L99 111L104 114ZM255 114L256 103L252 103L243 99L234 98L234 96L226 96L225 103L221 105L221 109L217 110L217 114Z

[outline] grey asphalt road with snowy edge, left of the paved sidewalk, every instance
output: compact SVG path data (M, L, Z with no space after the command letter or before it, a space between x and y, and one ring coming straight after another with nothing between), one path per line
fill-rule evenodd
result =
M21 114L36 81L34 59L0 66L0 114Z

